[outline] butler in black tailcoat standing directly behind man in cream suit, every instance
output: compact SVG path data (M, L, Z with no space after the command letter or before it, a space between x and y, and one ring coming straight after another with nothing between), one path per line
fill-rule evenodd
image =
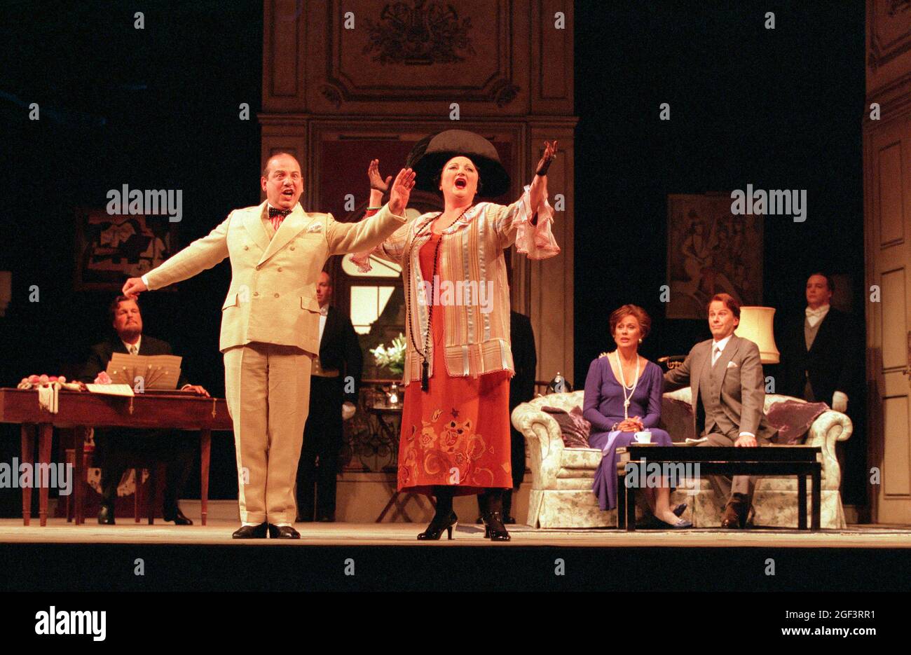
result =
M363 353L351 319L329 304L332 281L316 284L320 303L320 356L313 359L310 414L297 467L297 520L335 520L335 483L342 450L343 418L353 416L361 386ZM344 414L344 416L343 416ZM314 493L315 486L315 493Z

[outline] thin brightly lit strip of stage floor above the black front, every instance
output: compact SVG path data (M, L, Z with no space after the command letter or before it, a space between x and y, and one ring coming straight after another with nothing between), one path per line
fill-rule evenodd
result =
M491 544L484 529L474 523L459 524L449 541L444 536L436 542L418 541L415 537L425 526L416 523L298 523L301 539L232 539L239 524L214 519L202 527L174 526L156 520L134 523L118 519L116 526L99 526L92 517L82 526L73 526L62 518L48 519L39 527L37 519L25 527L21 519L0 519L0 543L8 544L148 544L170 546L442 546L496 548L911 548L911 526L853 526L844 530L806 532L784 528L722 530L616 529L539 530L525 525L509 526L512 540Z

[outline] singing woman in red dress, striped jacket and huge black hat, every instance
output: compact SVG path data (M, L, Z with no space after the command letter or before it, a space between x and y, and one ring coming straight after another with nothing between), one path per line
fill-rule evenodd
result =
M435 496L436 514L419 539L452 538L453 497L481 494L485 537L506 541L502 494L512 486L509 436L509 288L504 249L532 259L559 252L550 231L545 143L521 197L496 197L509 177L496 148L464 130L422 139L408 157L418 189L443 196L443 211L410 220L370 254L402 266L406 341L399 445L400 491ZM365 253L353 260L362 265Z

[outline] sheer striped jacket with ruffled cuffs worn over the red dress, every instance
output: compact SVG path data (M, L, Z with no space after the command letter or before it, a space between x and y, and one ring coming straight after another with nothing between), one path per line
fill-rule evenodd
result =
M438 300L427 297L432 281L425 281L419 259L421 246L430 240L431 224L437 212L409 220L373 251L352 256L362 271L371 269L371 256L402 267L408 293L404 384L421 379L422 358L415 352L413 341L424 348L428 304L434 301L443 306L446 374L477 377L496 371L515 373L509 343L509 287L503 251L516 243L517 251L533 260L548 259L560 251L550 230L553 210L547 198L537 212L537 224L531 224L534 212L528 189L507 206L481 202L444 230L437 271L439 281L434 285ZM437 310L435 320L439 316ZM433 343L425 354L429 374L433 375Z

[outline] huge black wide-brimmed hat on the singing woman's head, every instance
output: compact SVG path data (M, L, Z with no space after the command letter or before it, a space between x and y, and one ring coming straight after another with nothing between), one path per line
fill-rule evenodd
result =
M422 138L408 154L405 168L415 171L417 189L438 193L436 176L449 159L459 156L475 163L482 185L479 196L496 198L509 190L509 174L500 163L494 144L465 129L447 129Z

